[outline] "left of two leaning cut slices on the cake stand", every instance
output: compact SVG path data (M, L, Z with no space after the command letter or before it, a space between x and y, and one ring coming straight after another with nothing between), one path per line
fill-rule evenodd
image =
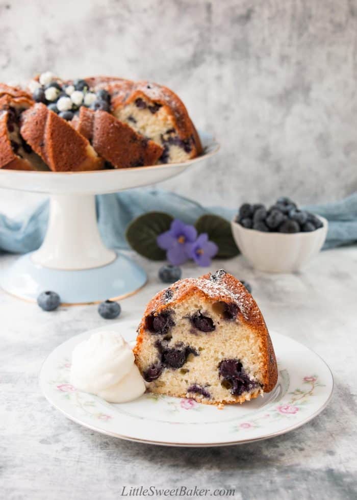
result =
M89 141L42 103L21 114L20 133L54 172L103 168Z

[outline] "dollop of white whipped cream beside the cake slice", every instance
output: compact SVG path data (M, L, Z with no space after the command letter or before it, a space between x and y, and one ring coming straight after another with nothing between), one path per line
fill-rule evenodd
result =
M131 346L112 331L93 333L74 347L70 382L109 403L126 403L145 392Z

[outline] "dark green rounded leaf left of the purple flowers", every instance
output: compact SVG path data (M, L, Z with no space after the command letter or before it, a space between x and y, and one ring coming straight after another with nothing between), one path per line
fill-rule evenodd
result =
M134 219L126 229L126 239L130 246L150 260L164 260L165 250L162 250L156 239L159 234L168 231L173 217L164 212L148 212Z

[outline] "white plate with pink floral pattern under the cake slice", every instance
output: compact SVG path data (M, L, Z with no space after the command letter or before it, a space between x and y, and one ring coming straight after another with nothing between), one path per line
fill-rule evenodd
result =
M134 341L138 321L110 324ZM278 362L276 387L264 397L223 410L146 393L136 401L110 404L75 390L69 383L73 347L108 326L77 335L46 359L40 386L48 401L82 426L110 436L171 446L219 446L284 434L316 417L328 404L334 379L326 363L307 347L283 335L271 335Z

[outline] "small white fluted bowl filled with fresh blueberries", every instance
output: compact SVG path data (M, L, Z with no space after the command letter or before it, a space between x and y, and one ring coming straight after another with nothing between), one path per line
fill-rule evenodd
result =
M282 196L270 208L244 203L232 220L242 255L266 272L298 271L315 257L326 239L327 220L298 209Z

